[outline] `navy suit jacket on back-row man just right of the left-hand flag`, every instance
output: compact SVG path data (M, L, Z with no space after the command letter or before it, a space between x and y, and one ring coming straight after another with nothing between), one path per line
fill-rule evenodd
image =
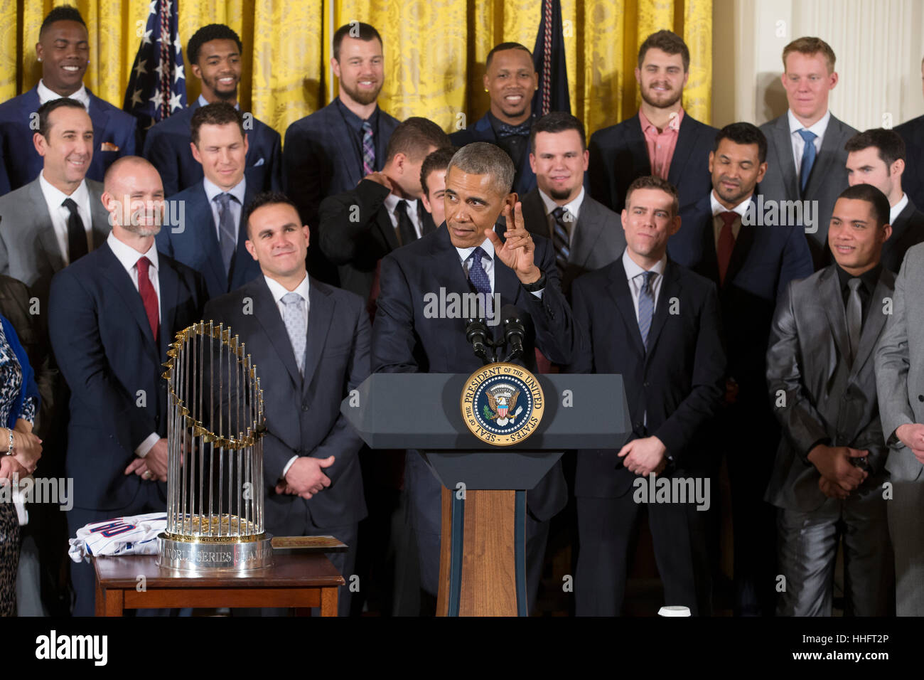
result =
M199 108L197 100L192 105L164 118L148 130L144 139L143 156L152 162L164 182L164 196L188 189L202 179L202 167L192 157L189 142L192 138L189 125L192 114ZM245 114L248 116L249 114ZM244 170L247 183L259 192L282 189L283 151L279 133L257 118L252 118L253 129L246 130L247 158Z

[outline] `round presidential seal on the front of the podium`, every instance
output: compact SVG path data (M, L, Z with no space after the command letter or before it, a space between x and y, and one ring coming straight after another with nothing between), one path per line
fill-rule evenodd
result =
M489 364L468 377L462 390L462 419L481 441L510 446L527 439L542 419L542 388L526 368Z

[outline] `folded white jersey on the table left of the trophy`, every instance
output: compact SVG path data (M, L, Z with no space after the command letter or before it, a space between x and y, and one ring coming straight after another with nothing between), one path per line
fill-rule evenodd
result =
M96 555L156 555L157 535L166 530L167 513L136 514L91 522L70 539L67 554L79 563Z

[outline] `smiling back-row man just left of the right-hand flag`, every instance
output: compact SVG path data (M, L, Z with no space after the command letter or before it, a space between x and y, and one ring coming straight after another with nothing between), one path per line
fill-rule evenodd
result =
M538 89L532 53L520 43L494 45L484 73L491 108L474 125L450 135L456 146L491 142L504 149L517 168L513 191L520 196L536 187L536 175L529 165L529 129L534 120L532 95Z

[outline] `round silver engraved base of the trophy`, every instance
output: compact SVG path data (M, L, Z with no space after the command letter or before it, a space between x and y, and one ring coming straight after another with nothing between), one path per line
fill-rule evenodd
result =
M177 540L164 533L157 537L160 547L157 565L193 575L247 575L273 566L272 538L262 534L253 540L204 542Z

